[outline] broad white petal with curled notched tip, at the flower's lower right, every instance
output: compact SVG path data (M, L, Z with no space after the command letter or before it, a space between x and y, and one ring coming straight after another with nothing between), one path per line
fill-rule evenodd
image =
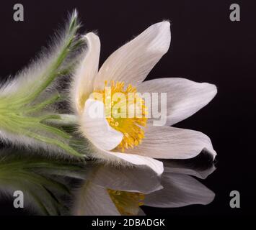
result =
M159 159L188 159L202 150L215 158L211 139L201 132L170 126L148 126L142 143L134 149L127 149L127 152Z

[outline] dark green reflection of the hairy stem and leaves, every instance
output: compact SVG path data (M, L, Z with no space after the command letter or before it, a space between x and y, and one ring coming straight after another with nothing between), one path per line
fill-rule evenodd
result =
M1 149L0 168L1 197L11 196L13 200L14 191L22 191L24 208L36 215L69 213L63 201L63 197L71 198L67 178L81 179L84 175L83 166L76 162L45 159L14 149Z

